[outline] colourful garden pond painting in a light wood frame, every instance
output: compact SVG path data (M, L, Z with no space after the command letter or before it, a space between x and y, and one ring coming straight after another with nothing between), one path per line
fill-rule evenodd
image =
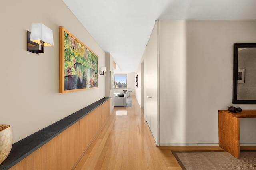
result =
M98 88L98 55L60 26L60 93Z

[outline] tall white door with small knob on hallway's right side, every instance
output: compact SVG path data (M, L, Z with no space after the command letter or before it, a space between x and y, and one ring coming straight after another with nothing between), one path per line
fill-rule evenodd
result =
M146 47L146 121L159 146L158 109L158 23L156 22Z

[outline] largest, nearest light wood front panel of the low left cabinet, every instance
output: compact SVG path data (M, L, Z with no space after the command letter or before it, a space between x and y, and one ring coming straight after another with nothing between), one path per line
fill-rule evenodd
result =
M70 170L80 157L79 138L77 122L10 170Z

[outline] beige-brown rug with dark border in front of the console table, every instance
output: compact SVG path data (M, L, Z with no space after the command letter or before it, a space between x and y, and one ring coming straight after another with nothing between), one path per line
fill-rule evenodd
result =
M172 151L183 170L256 170L256 150L240 151L236 159L226 151Z

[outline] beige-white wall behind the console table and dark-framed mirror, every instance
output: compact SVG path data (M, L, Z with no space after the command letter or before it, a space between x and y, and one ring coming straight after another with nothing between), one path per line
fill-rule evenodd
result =
M233 44L256 42L256 20L160 20L160 145L218 145L218 110L232 105ZM235 104L256 109L256 104ZM241 119L240 143L256 143Z

